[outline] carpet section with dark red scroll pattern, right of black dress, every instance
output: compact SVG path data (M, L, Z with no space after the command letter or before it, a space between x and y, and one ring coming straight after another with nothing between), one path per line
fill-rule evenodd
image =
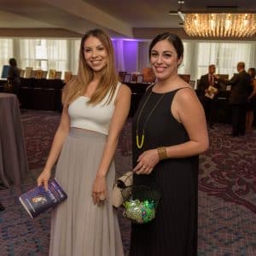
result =
M256 133L229 137L230 125L210 131L211 148L201 155L199 189L256 213Z

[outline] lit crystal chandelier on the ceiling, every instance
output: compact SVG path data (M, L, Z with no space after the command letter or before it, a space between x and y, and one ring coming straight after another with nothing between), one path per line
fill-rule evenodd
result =
M252 37L256 33L256 14L186 14L184 30L191 37Z

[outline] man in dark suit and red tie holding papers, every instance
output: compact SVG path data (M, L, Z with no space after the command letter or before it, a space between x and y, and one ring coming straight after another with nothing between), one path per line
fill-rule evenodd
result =
M220 88L218 79L214 76L215 71L215 65L210 65L208 67L208 73L201 76L199 84L197 85L198 96L205 110L207 123L210 128L213 128L213 124L216 119L216 101L218 89ZM212 88L209 86L212 86L215 90L209 90Z

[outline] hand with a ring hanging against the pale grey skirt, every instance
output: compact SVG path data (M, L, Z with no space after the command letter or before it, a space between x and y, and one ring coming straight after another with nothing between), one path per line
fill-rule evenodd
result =
M100 206L107 200L107 196L106 177L97 176L92 187L93 203Z

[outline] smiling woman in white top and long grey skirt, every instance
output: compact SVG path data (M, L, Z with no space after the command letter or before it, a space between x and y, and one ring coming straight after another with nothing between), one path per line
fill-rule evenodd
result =
M47 189L51 169L67 192L52 212L49 255L123 256L119 224L112 204L113 155L131 102L131 90L119 83L113 45L95 29L81 39L79 71L62 94L61 123L38 177Z

